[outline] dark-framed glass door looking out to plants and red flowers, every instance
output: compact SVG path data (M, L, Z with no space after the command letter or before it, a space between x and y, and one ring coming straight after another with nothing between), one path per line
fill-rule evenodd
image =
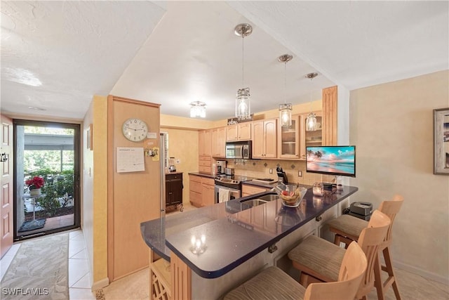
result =
M14 239L80 226L80 125L13 120Z

